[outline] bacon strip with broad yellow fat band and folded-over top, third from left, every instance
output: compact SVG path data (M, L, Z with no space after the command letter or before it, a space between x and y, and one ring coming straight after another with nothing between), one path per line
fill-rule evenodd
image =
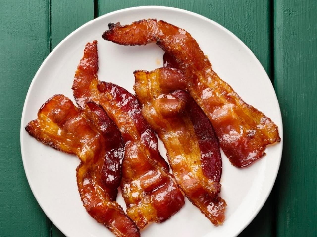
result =
M178 70L136 71L134 89L142 113L164 142L178 186L217 225L224 220L225 201L218 197L222 162L216 134L204 112L170 82L182 82ZM165 94L162 94L164 91Z

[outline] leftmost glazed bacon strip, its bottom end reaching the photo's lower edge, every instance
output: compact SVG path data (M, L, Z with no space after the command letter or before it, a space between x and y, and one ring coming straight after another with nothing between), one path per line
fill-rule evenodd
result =
M78 191L90 216L116 236L140 236L134 222L114 202L124 146L120 131L100 106L89 102L81 110L67 97L55 95L25 129L38 141L79 157Z

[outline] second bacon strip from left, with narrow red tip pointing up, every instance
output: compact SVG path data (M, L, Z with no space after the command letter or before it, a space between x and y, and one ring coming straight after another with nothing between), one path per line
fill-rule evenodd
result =
M151 221L163 222L184 205L184 196L168 174L157 138L143 118L135 96L120 86L100 82L97 71L94 41L86 45L75 74L75 100L80 106L89 100L101 105L121 131L125 143L121 189L127 215L139 228Z

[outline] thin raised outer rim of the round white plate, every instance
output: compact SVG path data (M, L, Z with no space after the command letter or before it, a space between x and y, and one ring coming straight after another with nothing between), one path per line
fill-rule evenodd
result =
M251 49L245 45L245 43L240 40L234 33L232 33L230 30L228 30L227 28L223 27L222 25L220 25L219 23L217 23L216 21L213 21L203 15L200 15L198 13L195 13L195 12L191 12L189 10L185 10L185 9L180 9L180 8L176 8L176 7L168 7L168 6L158 6L158 5L146 5L146 6L137 6L137 7L129 7L129 8L124 8L124 9L119 9L119 10L116 10L116 11L112 11L112 12L109 12L107 14L104 14L104 15L101 15L97 18L94 18L88 22L86 22L85 24L83 24L82 26L78 27L77 29L75 29L73 32L71 32L70 34L68 34L50 53L49 55L44 59L44 61L42 62L41 66L38 68L35 76L33 77L32 79L32 82L29 86L29 89L28 89L28 92L26 94L26 97L25 97L25 100L24 100L24 103L23 103L23 110L22 110L22 115L21 115L21 123L20 123L20 152L21 152L21 157L22 157L22 162L23 162L23 169L24 169L24 172L25 172L25 175L26 175L26 178L28 180L28 183L29 183L29 186L31 188L31 191L37 201L37 203L40 205L42 211L45 213L45 215L49 218L49 220L64 234L66 235L63 230L61 228L59 228L59 226L53 222L50 218L50 215L46 212L46 210L43 208L43 205L41 204L41 202L39 201L39 197L36 195L35 191L34 191L34 185L32 185L32 182L31 182L31 178L29 176L29 171L26 169L26 161L25 161L25 156L23 154L23 150L24 150L24 145L23 145L23 132L25 132L24 130L24 125L23 125L23 122L24 122L24 116L25 116L25 109L26 109L26 104L27 104L27 101L29 100L29 97L30 97L30 92L31 92L31 89L33 88L34 86L34 83L36 81L36 78L38 77L40 71L42 70L42 68L44 67L44 65L46 64L46 62L49 60L50 57L52 57L52 55L54 54L54 52L66 41L68 40L68 38L70 38L72 35L74 35L75 33L77 33L78 31L80 31L82 28L88 26L88 25L91 25L92 23L94 23L95 21L100 21L102 20L103 18L109 16L109 15L115 15L117 13L122 13L122 12L129 12L129 11L133 11L133 10L144 10L144 9L157 9L157 10L171 10L171 11L178 11L178 12L181 12L181 13L184 13L184 14L189 14L189 15L193 15L195 17L198 17L204 21L208 21L209 23L215 25L216 27L219 27L221 30L225 31L226 33L228 33L231 37L233 37L244 49L246 49L246 52L248 52L249 56L251 56L255 63L258 64L262 70L262 72L265 73L266 75L266 80L268 80L270 82L270 79L268 77L268 74L266 73L266 71L264 70L261 62L258 60L258 58L255 56L255 54L251 51ZM281 166L281 158L282 158L282 150L283 150L283 121L282 121L282 116L281 116L281 108L280 108L280 104L279 104L279 101L277 99L277 96L276 96L276 93L275 93L275 90L274 90L274 87L273 87L273 84L272 82L270 82L270 89L274 92L273 94L275 95L274 96L274 100L278 106L278 110L279 110L279 118L280 118L280 122L281 122L281 126L279 126L279 135L281 137L281 141L280 141L280 146L281 146L281 149L279 150L279 154L278 154L278 166L276 167L276 171L274 173L274 182L272 182L270 185L269 185L269 189L268 189L268 192L266 193L265 197L263 198L262 202L255 208L255 210L253 211L253 214L249 217L249 219L244 223L244 225L241 225L240 228L237 229L236 231L236 234L235 236L238 236L245 228L247 228L249 226L249 224L254 220L254 218L258 215L258 213L260 212L260 210L262 209L263 205L265 204L265 202L267 201L268 199L268 196L270 195L270 193L272 192L272 189L273 189L273 186L275 184L275 181L276 181L276 177L277 177L277 174L279 172L279 169L280 169L280 166ZM273 98L272 98L273 99Z

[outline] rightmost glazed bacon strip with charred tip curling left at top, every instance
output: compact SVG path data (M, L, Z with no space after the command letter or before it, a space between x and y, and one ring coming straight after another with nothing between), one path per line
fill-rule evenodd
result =
M186 90L203 109L224 153L236 167L244 167L265 155L265 147L280 141L277 126L262 112L245 103L212 70L196 40L184 29L156 19L131 25L109 24L102 37L120 45L156 42L186 78Z

